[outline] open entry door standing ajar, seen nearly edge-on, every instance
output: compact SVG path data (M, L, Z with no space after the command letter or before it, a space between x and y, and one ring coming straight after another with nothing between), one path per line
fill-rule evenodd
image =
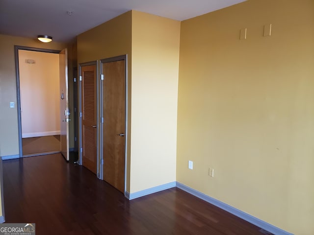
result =
M61 153L69 161L69 92L68 92L68 52L63 49L59 53L60 71L60 144Z

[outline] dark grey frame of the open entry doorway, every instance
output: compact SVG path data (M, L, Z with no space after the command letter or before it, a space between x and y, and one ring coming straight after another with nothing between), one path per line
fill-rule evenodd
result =
M17 108L17 113L18 113L18 132L19 132L19 157L23 158L19 50L31 50L31 51L49 52L49 53L55 53L55 54L58 54L61 50L53 50L53 49L45 49L45 48L37 48L37 47L24 47L24 46L16 46L16 45L14 46L15 75L16 75L16 108Z

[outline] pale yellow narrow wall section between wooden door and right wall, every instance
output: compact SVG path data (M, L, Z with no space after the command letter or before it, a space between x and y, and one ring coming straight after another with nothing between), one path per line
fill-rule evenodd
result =
M132 11L131 193L176 180L180 22Z

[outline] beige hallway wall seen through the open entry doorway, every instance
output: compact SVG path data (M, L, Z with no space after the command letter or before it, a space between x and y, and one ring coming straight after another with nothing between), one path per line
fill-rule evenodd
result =
M19 50L19 71L22 137L59 135L59 54Z

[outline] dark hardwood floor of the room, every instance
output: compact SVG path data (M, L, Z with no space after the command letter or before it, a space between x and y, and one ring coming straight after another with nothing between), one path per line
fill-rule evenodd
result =
M129 201L60 154L3 161L7 223L37 235L265 235L179 188Z

